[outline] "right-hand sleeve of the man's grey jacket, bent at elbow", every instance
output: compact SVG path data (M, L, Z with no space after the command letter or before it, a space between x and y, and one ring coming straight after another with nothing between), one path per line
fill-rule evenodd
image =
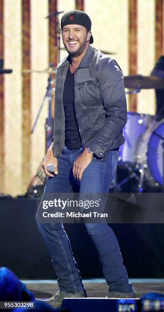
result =
M97 80L106 111L106 120L88 146L100 157L112 147L121 133L127 120L127 108L123 73L115 60L103 58L99 61Z

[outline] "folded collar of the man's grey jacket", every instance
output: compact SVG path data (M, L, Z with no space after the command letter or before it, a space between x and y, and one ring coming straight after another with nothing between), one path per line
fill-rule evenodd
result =
M94 54L94 48L92 47L92 46L88 46L88 49L87 49L87 51L86 51L86 53L85 53L85 55L84 55L84 57L82 58L82 60L81 60L81 63L80 63L80 65L79 65L79 68L84 68L84 67L89 67L90 66L90 64L91 64L91 61L92 61L92 58L93 58L93 54ZM70 63L70 61L69 61L69 55L68 55L68 57L66 57L66 58L64 58L59 64L58 64L58 66L57 67L60 67L60 68L62 68L62 67L64 67L64 66L67 66L69 63Z

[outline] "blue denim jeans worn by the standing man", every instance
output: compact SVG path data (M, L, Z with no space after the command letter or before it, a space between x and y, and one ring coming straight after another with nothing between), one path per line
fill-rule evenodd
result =
M93 157L84 170L81 181L73 176L73 163L82 153L81 149L69 150L64 147L58 158L58 175L48 177L44 193L72 193L74 186L79 186L80 193L108 193L110 183L116 171L118 151L109 150L105 159ZM44 198L44 194L43 194ZM42 198L42 200L43 200ZM40 207L39 207L40 209ZM85 223L97 251L109 292L135 293L132 283L122 263L117 238L107 223ZM60 291L85 293L80 272L72 253L67 233L62 223L38 223L38 228L46 242L52 257L52 265Z

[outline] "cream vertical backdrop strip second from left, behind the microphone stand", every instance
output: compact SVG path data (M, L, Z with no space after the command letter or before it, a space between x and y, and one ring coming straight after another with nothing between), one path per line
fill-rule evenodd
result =
M31 2L31 68L44 70L49 66L48 46L48 2L37 0ZM31 125L32 128L39 112L48 86L47 73L31 73ZM31 177L45 155L45 121L48 115L48 99L41 111L34 133L31 134ZM29 131L30 131L29 129ZM30 177L30 178L31 178Z

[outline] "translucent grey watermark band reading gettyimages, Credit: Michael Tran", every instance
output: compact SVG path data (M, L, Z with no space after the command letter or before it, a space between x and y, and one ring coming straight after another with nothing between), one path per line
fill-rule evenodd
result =
M38 199L40 223L164 223L163 193L47 193Z

